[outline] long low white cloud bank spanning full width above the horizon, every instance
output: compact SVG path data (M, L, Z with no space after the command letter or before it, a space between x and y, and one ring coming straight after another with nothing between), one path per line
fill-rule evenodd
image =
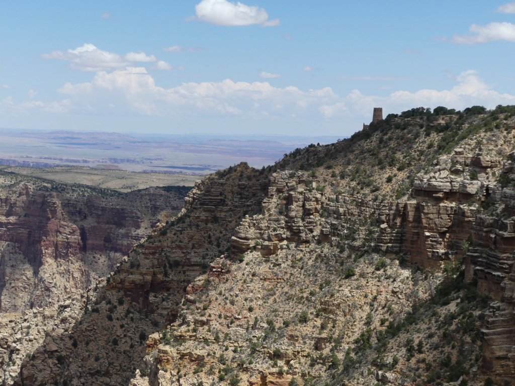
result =
M12 98L0 102L0 113L30 115L31 111L53 114L88 114L210 118L241 116L248 120L276 119L318 122L328 125L353 125L370 120L374 107L385 113L400 113L414 107L445 106L457 110L474 105L494 108L498 104L515 104L515 96L492 90L475 71L465 71L446 90L424 89L394 91L387 96L364 95L353 90L337 95L331 87L300 90L295 86L274 87L268 82L183 83L165 89L144 67L127 67L112 72L99 71L90 82L66 83L58 91L61 101L30 100L14 103ZM39 96L39 94L38 94ZM24 115L25 114L25 115ZM359 125L358 125L359 126ZM358 129L358 127L356 127Z

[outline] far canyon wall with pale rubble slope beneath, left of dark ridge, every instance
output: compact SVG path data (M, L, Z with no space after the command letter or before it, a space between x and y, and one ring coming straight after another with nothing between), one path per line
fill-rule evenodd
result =
M187 190L117 194L15 174L0 182L0 379L11 384L45 335L72 328L84 291L180 211Z

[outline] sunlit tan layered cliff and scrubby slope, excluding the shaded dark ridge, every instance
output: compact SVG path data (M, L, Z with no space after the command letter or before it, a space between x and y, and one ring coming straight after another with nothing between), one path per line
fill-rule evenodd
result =
M131 384L513 381L513 137L475 133L418 173L383 171L382 195L365 179L345 185L359 181L355 161L340 173L333 159L316 172L271 174L261 214L244 218L231 252L188 286ZM506 146L477 146L495 136ZM402 179L413 188L392 200Z

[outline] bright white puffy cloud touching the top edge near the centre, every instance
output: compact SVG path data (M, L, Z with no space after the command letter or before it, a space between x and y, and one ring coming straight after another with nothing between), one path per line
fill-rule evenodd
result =
M280 24L279 19L268 20L268 13L263 8L227 0L202 0L195 6L195 12L196 20L222 26L261 24L271 27Z

